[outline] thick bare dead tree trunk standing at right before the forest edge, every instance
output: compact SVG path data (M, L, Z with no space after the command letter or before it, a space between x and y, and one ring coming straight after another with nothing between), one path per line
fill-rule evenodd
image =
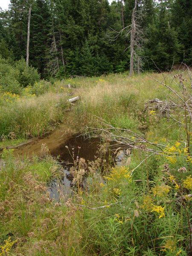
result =
M131 49L131 57L130 57L130 71L129 76L132 77L133 75L133 66L134 66L134 40L135 40L135 33L136 33L136 26L135 26L135 11L137 9L137 0L135 0L135 6L132 12L131 17L131 39L130 39L130 49Z

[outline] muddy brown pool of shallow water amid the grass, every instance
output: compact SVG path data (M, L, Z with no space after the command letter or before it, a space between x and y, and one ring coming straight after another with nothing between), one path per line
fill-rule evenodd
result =
M70 167L73 166L73 159L79 156L79 158L93 161L99 145L102 143L101 138L86 139L82 136L72 136L71 130L67 127L69 126L64 124L47 137L29 141L28 144L22 145L14 151L18 156L30 157L33 154L41 156L41 145L47 145L50 154L61 162L64 173L64 178L52 180L48 184L50 197L57 201L61 197L69 197L73 193L69 172ZM120 163L122 157L123 154L119 155L117 159L114 158L117 164Z

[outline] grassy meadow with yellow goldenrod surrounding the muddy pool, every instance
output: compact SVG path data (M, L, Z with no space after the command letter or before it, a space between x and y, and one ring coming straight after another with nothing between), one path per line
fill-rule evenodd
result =
M18 159L13 150L3 150L0 256L192 253L190 81L187 73L176 74L40 81L20 94L0 94L0 145L67 122L67 99L77 95L70 125L84 136L103 138L94 162L74 159L75 192L59 202L47 192L47 183L63 175L55 159ZM147 104L154 99L163 102L160 107ZM112 140L119 152L124 149L120 166L103 157Z

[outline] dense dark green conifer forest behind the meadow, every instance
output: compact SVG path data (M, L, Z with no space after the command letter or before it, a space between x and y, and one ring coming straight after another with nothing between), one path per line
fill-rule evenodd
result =
M26 59L30 28L29 65L42 78L126 71L134 5L135 0L11 0L0 11L0 55ZM135 71L192 63L192 1L138 0L135 21Z

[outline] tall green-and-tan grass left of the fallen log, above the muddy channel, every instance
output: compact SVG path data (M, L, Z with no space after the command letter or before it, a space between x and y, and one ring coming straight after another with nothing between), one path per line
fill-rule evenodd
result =
M63 120L66 108L67 97L53 93L21 98L1 106L0 135L8 136L14 132L16 138L41 136Z

